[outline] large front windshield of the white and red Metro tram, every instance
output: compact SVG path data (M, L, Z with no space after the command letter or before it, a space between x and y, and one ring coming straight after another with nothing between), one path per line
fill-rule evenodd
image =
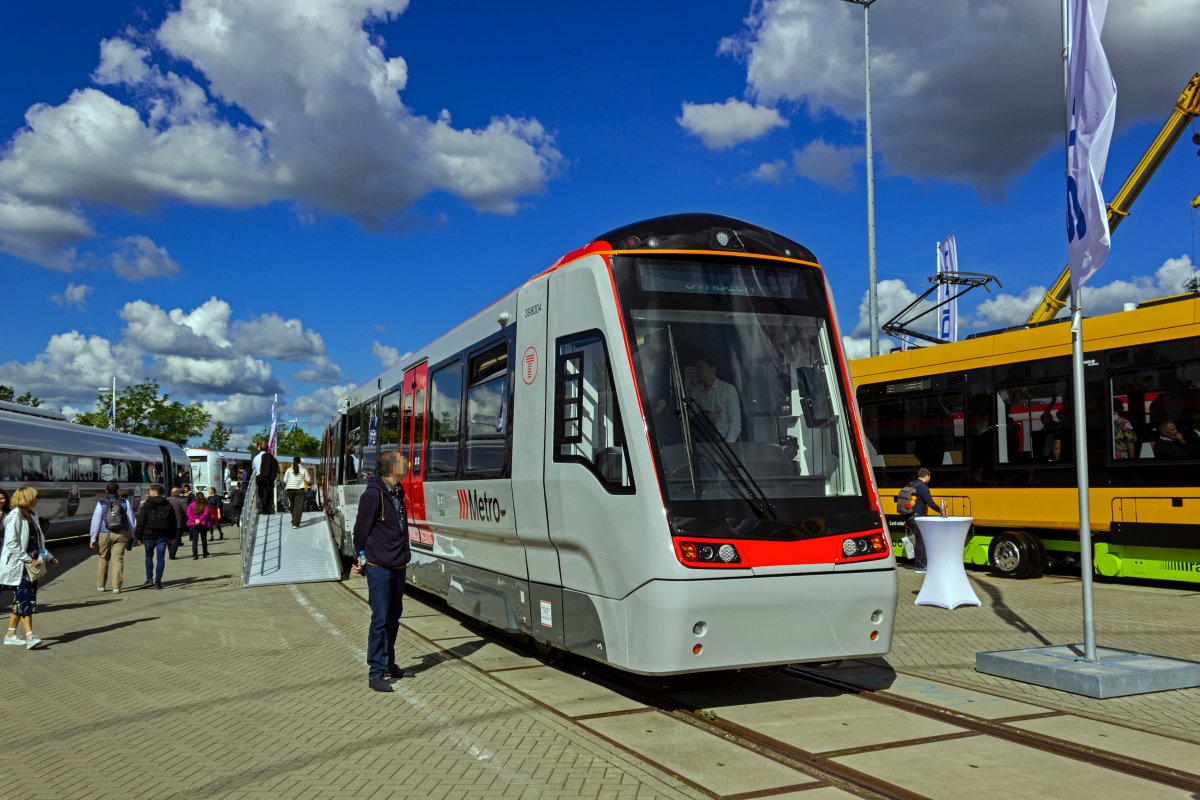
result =
M614 275L677 531L870 525L839 519L865 499L818 270L626 257Z

